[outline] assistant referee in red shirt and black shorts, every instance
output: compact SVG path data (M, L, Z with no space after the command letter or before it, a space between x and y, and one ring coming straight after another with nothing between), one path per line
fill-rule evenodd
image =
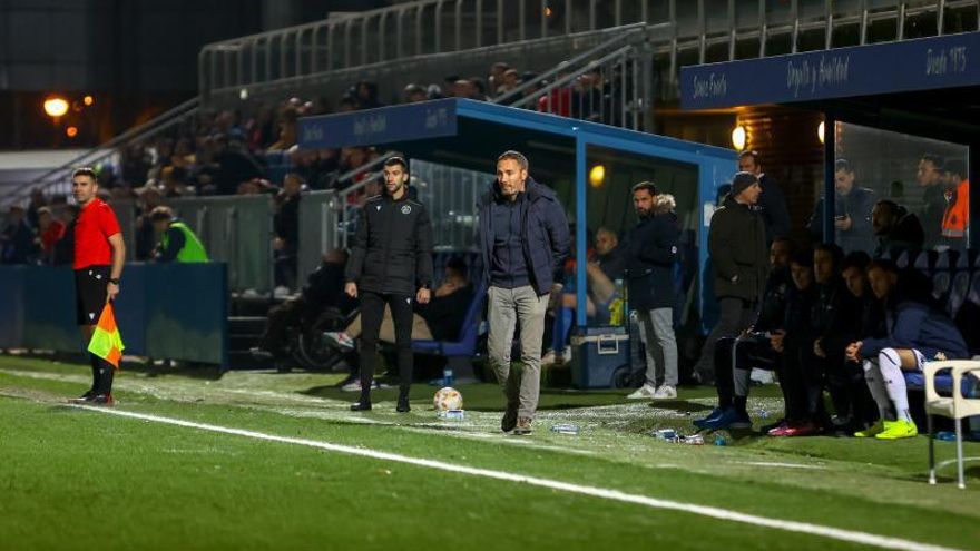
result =
M91 168L79 168L71 175L71 193L78 201L75 222L75 296L78 325L86 345L102 308L119 294L119 277L126 262L126 245L119 220L109 205L96 197L99 184ZM89 353L92 387L71 402L112 405L112 365Z

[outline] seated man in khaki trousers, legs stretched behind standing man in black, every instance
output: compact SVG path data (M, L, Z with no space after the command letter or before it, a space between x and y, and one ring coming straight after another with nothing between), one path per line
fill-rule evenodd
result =
M473 286L467 276L467 264L460 258L447 260L444 273L444 279L433 291L429 304L415 304L412 316L413 341L455 341L459 337L467 311L473 302ZM325 333L324 336L337 350L353 351L361 336L361 316L354 317L344 331ZM394 344L394 319L391 316L391 308L384 308L378 340Z

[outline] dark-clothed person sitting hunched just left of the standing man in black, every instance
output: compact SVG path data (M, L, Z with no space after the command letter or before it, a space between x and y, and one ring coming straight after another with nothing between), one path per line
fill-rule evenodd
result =
M344 294L344 266L347 253L333 249L323 256L323 263L306 278L300 294L268 311L268 321L258 346L252 354L282 360L286 354L290 332L308 331L321 325L321 317L334 324L343 323L355 304ZM324 319L324 322L326 322Z

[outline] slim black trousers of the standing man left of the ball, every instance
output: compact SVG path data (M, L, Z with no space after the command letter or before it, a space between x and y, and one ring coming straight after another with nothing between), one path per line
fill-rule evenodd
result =
M361 400L370 402L371 384L378 364L378 335L384 318L384 305L394 321L394 346L398 357L399 390L406 395L412 384L412 303L410 295L361 291Z

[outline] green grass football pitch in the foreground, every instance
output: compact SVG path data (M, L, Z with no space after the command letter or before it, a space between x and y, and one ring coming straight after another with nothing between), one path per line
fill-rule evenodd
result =
M925 479L924 436L899 442L723 435L726 446L657 441L693 432L708 388L676 401L546 390L529 437L499 431L493 385L461 386L467 416L437 420L434 388L394 390L375 411L312 373L125 371L116 410L329 442L628 494L708 505L913 544L980 549L980 469ZM842 539L718 520L241 435L68 407L86 366L0 356L0 549L859 549ZM749 402L776 412L777 388ZM772 417L773 414L770 414ZM770 419L771 420L771 419ZM755 419L758 422L768 420ZM552 433L556 423L579 435ZM938 442L941 459L953 445ZM980 456L980 444L967 444ZM924 549L924 548L922 548Z

